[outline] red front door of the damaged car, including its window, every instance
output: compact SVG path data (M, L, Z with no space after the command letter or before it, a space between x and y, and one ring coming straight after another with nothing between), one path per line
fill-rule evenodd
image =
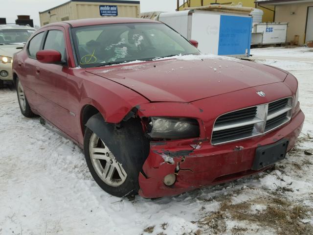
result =
M55 126L70 135L71 118L68 110L67 93L67 48L65 29L54 26L48 28L43 49L57 50L62 55L64 64L37 63L37 84L40 95L43 96L41 114Z

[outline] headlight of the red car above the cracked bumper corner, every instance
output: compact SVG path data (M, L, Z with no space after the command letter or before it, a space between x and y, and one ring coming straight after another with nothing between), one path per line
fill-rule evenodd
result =
M147 129L154 139L189 139L200 135L199 123L192 118L151 117Z

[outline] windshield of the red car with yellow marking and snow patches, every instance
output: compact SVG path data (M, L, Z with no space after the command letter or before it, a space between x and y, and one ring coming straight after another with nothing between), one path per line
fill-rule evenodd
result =
M165 24L105 24L73 30L79 66L105 66L174 55L200 54Z

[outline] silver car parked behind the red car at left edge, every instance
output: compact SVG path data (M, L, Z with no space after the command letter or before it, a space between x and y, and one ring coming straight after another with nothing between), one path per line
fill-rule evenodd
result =
M13 54L20 51L35 28L28 25L0 24L0 87L3 81L12 81Z

